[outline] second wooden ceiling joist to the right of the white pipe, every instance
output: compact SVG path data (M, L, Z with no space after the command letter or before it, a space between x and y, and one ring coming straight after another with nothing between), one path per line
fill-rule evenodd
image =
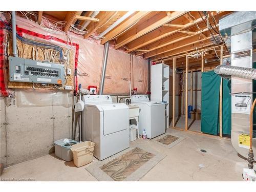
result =
M151 23L151 19L149 19L147 21L147 23L145 23L145 28L143 28L142 30L140 31L137 31L137 29L135 28L134 31L130 31L129 32L129 36L127 37L119 37L117 40L117 45L115 46L115 49L118 49L120 47L122 47L123 45L145 35L146 33L148 32L151 32L159 27L161 27L162 25L168 23L168 22L171 22L172 20L184 15L185 12L184 11L174 11L172 13L172 16L165 16L159 20L157 20L157 22L154 22L153 24L150 24L150 25L147 25L147 23ZM154 17L152 19L155 19Z

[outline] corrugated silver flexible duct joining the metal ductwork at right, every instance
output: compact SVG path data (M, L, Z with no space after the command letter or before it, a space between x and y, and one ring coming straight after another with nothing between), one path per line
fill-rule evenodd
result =
M244 79L256 79L256 69L234 67L234 66L217 66L214 72L218 75L230 75Z

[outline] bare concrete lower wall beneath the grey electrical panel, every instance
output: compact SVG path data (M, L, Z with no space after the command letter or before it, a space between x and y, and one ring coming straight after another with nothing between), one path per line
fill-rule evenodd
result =
M71 138L72 105L18 107L12 100L6 106L2 97L0 103L4 167L52 153L55 140Z

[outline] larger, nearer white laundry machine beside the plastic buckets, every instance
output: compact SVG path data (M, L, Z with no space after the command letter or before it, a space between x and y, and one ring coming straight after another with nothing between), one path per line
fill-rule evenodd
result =
M100 161L129 147L129 107L109 95L83 96L82 139L95 143Z

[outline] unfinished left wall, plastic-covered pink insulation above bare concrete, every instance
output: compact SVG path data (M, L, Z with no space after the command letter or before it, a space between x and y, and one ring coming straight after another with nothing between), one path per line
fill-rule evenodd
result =
M21 17L17 17L17 26L67 40L63 32L42 28ZM24 36L32 38L30 35ZM63 46L54 39L43 41ZM78 83L81 83L82 88L89 85L99 87L103 45L74 34L72 42L79 44ZM71 49L75 51L74 47ZM147 65L145 59L130 57L127 53L110 48L104 94L129 94L130 79L133 86L138 88L138 94L144 94L148 82ZM14 99L1 96L0 100L0 161L5 167L52 153L53 142L71 138L72 132L72 92L33 89L14 91Z

